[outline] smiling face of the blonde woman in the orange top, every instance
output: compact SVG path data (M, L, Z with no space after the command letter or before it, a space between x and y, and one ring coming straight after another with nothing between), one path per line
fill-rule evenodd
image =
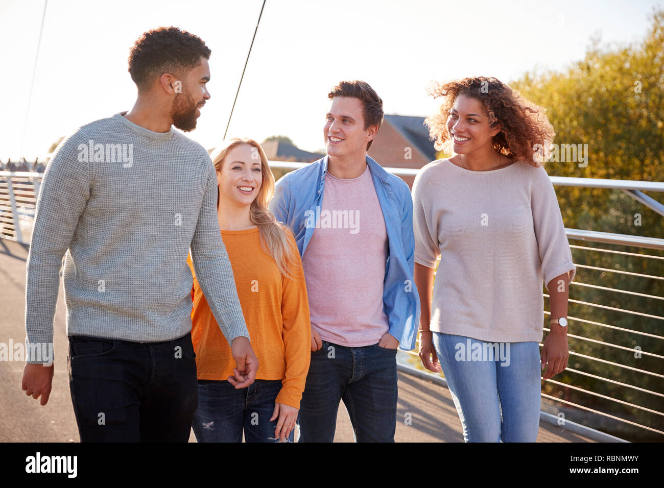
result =
M263 181L261 159L258 150L249 144L232 147L217 171L220 201L236 206L250 205L258 193ZM221 202L220 202L221 203ZM221 206L221 204L220 204Z

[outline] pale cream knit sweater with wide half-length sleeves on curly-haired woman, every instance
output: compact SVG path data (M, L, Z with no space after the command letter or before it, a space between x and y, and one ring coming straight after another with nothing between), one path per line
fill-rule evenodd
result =
M412 189L415 262L436 268L431 330L491 342L542 341L542 280L576 267L543 167L424 166ZM556 284L557 287L557 284Z

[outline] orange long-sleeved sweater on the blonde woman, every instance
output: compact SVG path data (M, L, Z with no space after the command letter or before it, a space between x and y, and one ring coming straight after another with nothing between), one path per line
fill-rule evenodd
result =
M256 379L282 380L276 402L299 408L311 356L311 322L295 239L288 232L296 260L291 272L295 280L288 280L263 250L258 228L223 230L221 236L252 348L258 357ZM226 380L233 374L235 361L196 279L191 255L187 263L194 275L191 339L197 375L200 380Z

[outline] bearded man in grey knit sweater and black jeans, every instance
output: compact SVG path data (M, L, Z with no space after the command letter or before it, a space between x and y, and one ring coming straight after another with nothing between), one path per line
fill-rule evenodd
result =
M144 33L129 55L138 87L131 111L80 127L44 173L27 262L22 387L48 402L64 255L70 392L82 442L189 439L198 405L190 248L236 360L236 388L256 377L212 161L171 127L196 127L210 98L209 56L201 39L175 27Z

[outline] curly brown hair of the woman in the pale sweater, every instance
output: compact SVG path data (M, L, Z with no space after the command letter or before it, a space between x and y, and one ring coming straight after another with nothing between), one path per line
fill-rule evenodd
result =
M515 161L527 161L537 167L538 153L535 145L548 148L555 135L546 118L545 110L521 97L496 78L477 76L449 82L432 83L428 93L434 98L443 97L436 114L428 116L424 123L429 128L430 139L439 151L452 153L452 141L447 120L457 96L465 95L479 100L489 118L489 125L501 125L493 136L493 148Z

